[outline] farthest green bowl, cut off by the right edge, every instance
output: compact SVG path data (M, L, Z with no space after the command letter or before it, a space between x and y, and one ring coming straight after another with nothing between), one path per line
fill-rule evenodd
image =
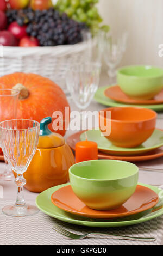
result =
M136 100L149 100L163 89L163 69L154 66L125 66L118 70L121 90Z

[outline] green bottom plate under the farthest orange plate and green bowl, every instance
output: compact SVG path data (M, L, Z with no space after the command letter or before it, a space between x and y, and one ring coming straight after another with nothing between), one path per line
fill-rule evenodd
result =
M143 107L153 109L155 111L163 111L163 104L158 105L133 105L133 104L124 104L118 103L117 101L111 100L104 95L105 90L110 86L104 86L97 90L95 94L95 100L102 105L109 106L109 107Z

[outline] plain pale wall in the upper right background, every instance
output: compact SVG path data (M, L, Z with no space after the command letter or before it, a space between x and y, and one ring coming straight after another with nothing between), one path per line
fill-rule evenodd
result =
M121 65L163 66L158 45L163 43L162 0L99 0L104 22L114 33L129 32L128 48Z

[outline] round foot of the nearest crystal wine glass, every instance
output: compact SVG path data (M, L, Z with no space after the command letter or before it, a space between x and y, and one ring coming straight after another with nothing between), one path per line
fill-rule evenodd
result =
M3 214L13 217L25 217L37 214L39 209L30 204L24 206L7 205L2 209Z

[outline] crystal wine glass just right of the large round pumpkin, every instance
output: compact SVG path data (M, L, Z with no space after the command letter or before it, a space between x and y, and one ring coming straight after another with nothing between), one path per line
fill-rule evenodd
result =
M89 107L98 89L100 72L101 64L98 62L74 64L67 71L66 84L79 109L80 127L87 118L87 113L84 110ZM82 125L82 127L85 126Z

